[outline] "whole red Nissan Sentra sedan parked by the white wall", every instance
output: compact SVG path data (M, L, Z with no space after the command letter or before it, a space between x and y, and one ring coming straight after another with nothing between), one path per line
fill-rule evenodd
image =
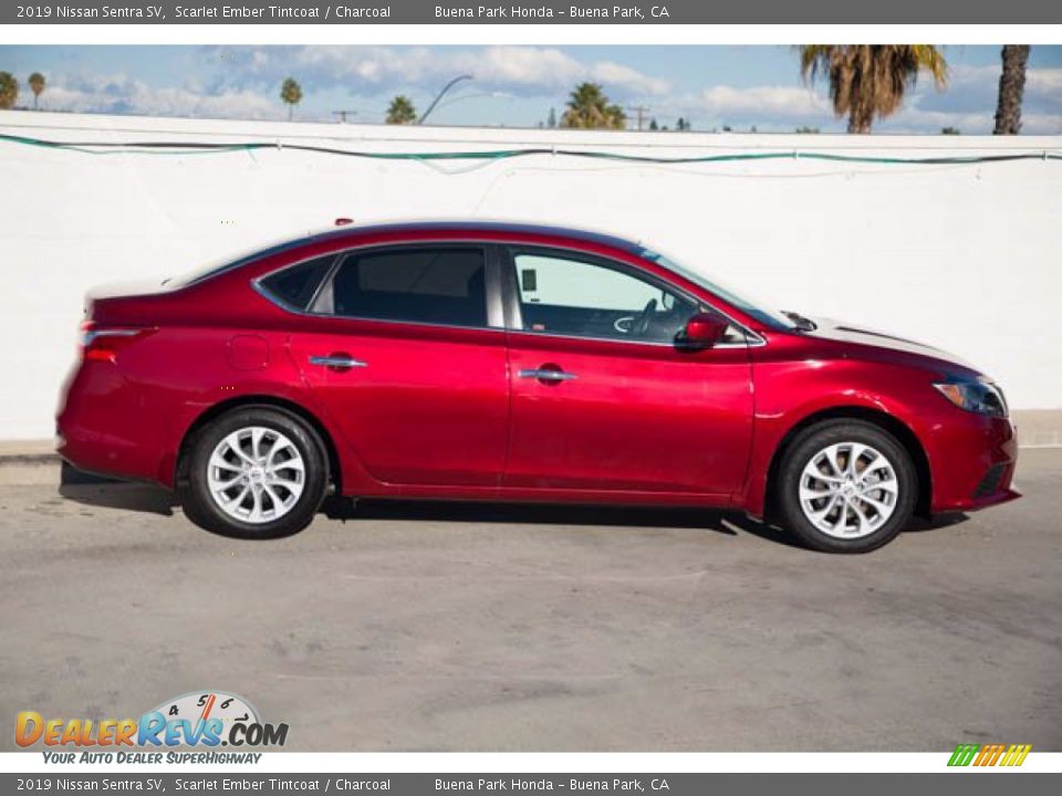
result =
M980 373L594 233L345 228L86 315L60 453L225 534L335 492L737 509L855 553L1018 496Z

